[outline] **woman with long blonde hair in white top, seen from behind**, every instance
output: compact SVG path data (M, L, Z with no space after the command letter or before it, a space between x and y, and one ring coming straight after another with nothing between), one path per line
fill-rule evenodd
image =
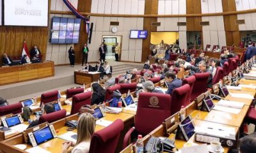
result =
M76 143L64 142L62 145L62 153L67 153L70 146L74 147L71 153L88 153L95 126L93 115L90 113L82 113L78 119L77 141Z

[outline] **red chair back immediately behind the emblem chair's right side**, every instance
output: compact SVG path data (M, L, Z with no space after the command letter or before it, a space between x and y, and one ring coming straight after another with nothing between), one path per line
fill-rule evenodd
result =
M182 85L181 87L178 87L173 90L171 115L179 112L181 106L187 106L190 103L189 101L187 101L189 91L190 91L189 84Z

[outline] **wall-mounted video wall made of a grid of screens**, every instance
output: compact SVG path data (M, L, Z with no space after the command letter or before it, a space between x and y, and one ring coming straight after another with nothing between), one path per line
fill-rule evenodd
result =
M80 25L80 18L53 17L51 43L78 43Z

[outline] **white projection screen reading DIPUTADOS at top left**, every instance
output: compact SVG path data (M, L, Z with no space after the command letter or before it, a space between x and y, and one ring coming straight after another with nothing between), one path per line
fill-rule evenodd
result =
M48 26L48 0L4 0L4 25Z

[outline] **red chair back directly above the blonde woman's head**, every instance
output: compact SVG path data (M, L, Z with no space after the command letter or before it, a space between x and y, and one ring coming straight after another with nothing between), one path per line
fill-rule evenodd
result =
M81 94L76 94L72 98L72 107L71 107L71 112L70 115L78 113L81 106L84 105L91 105L92 102L92 92L83 92Z

